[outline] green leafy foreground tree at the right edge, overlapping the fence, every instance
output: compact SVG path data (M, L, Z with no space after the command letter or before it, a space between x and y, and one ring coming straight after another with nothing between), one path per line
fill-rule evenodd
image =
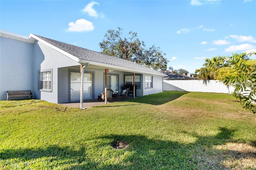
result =
M250 55L256 55L251 53ZM233 54L226 76L220 77L226 85L235 87L233 96L240 100L244 109L256 112L256 60L249 60L246 53Z

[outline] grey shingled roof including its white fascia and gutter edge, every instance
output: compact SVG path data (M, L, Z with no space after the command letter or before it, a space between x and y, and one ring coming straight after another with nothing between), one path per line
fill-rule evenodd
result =
M165 76L164 73L155 71L148 67L144 67L140 64L121 59L118 57L106 55L100 52L92 51L68 43L59 42L35 34L30 34L30 38L34 38L40 42L45 43L48 46L53 47L57 51L63 53L64 55L74 59L78 63L90 63L93 65L100 65L102 67L111 67L114 69L120 69L123 71L132 71L137 73L151 73L154 75ZM60 49L60 50L59 50Z

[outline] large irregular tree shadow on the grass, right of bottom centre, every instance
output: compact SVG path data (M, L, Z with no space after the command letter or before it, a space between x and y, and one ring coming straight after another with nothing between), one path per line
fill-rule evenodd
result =
M150 139L144 135L110 134L100 138L112 141L111 143L102 143L102 145L112 146L113 141L125 141L129 145L123 149L123 152L134 154L128 154L129 156L126 157L125 161L130 162L130 164L122 167L124 169L226 169L223 166L225 158L220 155L223 151L214 147L227 142L235 142L232 139L235 130L224 127L220 127L219 130L220 132L214 136L191 134L197 139L188 144L171 140ZM113 147L113 149L115 148ZM230 152L229 156L232 154L233 152ZM244 154L250 154L250 152Z

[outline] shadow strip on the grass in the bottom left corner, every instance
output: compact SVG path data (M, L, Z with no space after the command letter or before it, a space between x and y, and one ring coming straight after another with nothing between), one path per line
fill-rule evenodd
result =
M27 163L37 158L47 158L46 160L41 160L41 164L45 164L47 162L48 168L45 169L54 169L58 167L68 167L71 164L83 164L83 167L97 167L97 164L86 156L86 148L80 147L79 150L75 150L71 147L60 147L57 145L49 146L46 148L20 148L20 149L6 149L0 151L0 160L2 160L2 164L4 160L12 160L12 162L24 162L26 166L31 165L32 163ZM26 161L26 162L25 162ZM46 161L46 162L44 162ZM10 161L6 161L6 165L10 164ZM33 166L35 169L42 168L42 165L37 163L37 166ZM70 166L70 169L73 166ZM4 167L2 167L4 168ZM1 166L0 166L1 169ZM5 168L4 168L5 169ZM8 168L7 168L8 169ZM12 168L9 168L12 169ZM65 168L66 169L66 168Z

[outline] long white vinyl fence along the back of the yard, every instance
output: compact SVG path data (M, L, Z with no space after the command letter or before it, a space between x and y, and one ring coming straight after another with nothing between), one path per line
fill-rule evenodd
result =
M234 87L227 87L216 80L164 80L165 91L194 91L209 93L232 93Z

